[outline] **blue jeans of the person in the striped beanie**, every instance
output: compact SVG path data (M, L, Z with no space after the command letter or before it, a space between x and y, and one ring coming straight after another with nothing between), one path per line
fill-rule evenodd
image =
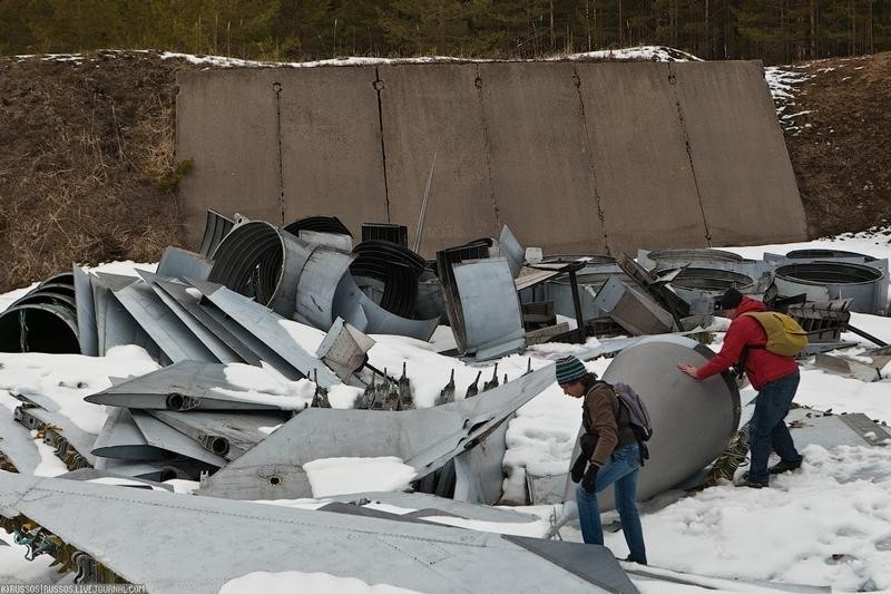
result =
M621 519L621 532L631 552L629 561L646 564L647 552L644 547L644 530L640 528L640 515L637 513L637 475L640 471L640 450L637 444L616 448L610 460L597 473L595 490L600 493L615 484L616 509ZM578 517L581 523L581 537L587 544L603 545L604 528L600 525L600 506L597 495L589 494L581 485L576 487Z

